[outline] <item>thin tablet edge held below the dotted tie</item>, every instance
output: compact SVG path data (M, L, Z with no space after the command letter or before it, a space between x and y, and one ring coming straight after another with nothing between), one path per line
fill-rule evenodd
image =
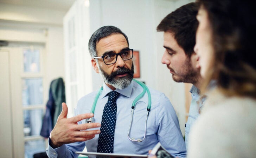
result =
M88 157L103 157L103 158L110 158L110 157L148 157L148 155L139 155L139 154L121 154L121 153L101 153L101 152L79 152L76 151L77 154L86 155Z

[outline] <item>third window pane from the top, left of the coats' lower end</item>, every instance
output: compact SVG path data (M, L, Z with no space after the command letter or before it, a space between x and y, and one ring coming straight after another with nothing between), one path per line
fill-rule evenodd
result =
M24 136L39 135L42 127L43 109L24 110Z

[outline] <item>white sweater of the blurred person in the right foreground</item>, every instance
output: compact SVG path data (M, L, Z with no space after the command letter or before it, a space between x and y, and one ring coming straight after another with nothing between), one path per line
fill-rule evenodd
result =
M188 158L256 158L256 100L212 91L191 129Z

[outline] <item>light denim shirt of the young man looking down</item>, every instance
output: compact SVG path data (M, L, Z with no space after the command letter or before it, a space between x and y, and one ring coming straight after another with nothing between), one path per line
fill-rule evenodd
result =
M189 116L187 118L187 123L185 124L185 143L186 149L189 141L189 132L190 128L193 126L194 122L199 116L199 109L203 106L200 101L200 90L196 86L192 86L190 89L190 93L192 96L190 109L189 109ZM202 100L204 101L204 99ZM188 150L188 149L187 149Z

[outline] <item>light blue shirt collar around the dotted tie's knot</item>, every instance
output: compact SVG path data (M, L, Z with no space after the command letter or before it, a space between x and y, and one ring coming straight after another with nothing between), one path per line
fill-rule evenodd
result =
M119 92L119 93L122 94L123 96L126 96L126 97L130 98L131 95L132 95L133 85L134 85L134 81L132 80L131 84L130 84L128 87L126 87L126 88L124 88L124 89L122 89L122 90L116 89L115 91L116 91L116 92ZM105 82L104 82L104 83L103 83L103 90L102 90L101 95L100 95L99 98L100 98L100 99L104 98L104 97L107 96L107 94L108 94L109 92L111 92L111 91L112 91L112 90L111 90L111 89L105 84Z

